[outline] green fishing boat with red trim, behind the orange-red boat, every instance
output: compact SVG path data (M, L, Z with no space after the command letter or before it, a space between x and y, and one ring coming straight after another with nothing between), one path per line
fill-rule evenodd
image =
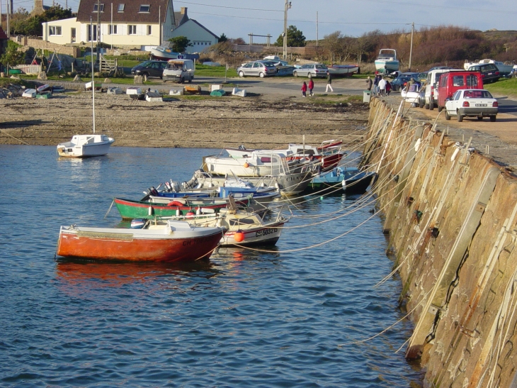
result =
M123 219L132 218L155 218L171 216L193 216L198 214L217 213L225 208L227 201L224 199L172 199L164 203L150 201L132 201L131 199L115 198L115 206ZM239 199L235 201L238 206L247 207L251 205L252 199Z

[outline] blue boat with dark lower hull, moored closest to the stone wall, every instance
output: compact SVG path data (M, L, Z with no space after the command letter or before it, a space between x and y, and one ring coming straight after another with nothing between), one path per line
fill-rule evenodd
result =
M375 172L360 171L356 167L336 167L314 177L307 186L307 191L364 194L374 177Z

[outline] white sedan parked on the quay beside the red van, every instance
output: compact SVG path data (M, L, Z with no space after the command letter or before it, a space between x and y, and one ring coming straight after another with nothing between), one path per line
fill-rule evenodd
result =
M464 117L478 120L489 117L490 121L496 121L498 111L497 100L485 89L460 89L445 101L445 120L457 116L460 123Z

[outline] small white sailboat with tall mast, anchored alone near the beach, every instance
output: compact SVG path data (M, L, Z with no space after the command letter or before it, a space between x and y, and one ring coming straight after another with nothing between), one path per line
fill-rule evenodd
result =
M93 40L92 40L93 52ZM93 85L93 60L91 61L91 84ZM57 154L61 157L93 157L106 155L115 139L106 135L95 134L95 88L91 88L93 133L90 135L74 135L72 140L57 145Z

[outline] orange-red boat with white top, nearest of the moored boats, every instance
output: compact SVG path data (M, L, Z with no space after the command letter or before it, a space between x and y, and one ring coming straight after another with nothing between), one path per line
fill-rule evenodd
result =
M223 233L222 228L172 220L149 223L142 229L62 226L57 255L87 260L195 261L210 257Z

